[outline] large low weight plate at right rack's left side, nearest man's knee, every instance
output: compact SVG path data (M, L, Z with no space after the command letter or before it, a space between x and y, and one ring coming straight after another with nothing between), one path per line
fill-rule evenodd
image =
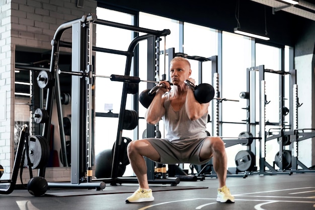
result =
M239 171L251 171L255 166L255 155L250 150L242 150L235 156L235 164Z

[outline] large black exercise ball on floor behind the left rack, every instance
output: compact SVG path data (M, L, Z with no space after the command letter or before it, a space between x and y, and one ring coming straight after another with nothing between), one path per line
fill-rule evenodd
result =
M104 150L95 157L95 177L109 178L112 173L113 155L112 150ZM117 176L125 173L126 166L118 165Z

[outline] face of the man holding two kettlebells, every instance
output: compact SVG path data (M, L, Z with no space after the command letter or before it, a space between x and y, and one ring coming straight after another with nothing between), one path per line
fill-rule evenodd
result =
M173 61L170 65L170 75L174 85L181 85L191 75L191 69L185 61Z

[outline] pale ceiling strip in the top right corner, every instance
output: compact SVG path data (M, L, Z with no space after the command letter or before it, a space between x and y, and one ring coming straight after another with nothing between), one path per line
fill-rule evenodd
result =
M283 3L280 0L251 0L273 8L273 12L285 11L315 21L315 4L313 0L299 0L297 5ZM313 2L313 3L311 3Z

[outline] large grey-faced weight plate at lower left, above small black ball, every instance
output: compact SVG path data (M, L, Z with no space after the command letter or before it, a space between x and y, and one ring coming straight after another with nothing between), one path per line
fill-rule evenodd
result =
M32 169L45 166L49 159L49 146L46 139L40 135L31 135L28 143L29 150L25 154L24 166L28 167L27 153L33 164Z

